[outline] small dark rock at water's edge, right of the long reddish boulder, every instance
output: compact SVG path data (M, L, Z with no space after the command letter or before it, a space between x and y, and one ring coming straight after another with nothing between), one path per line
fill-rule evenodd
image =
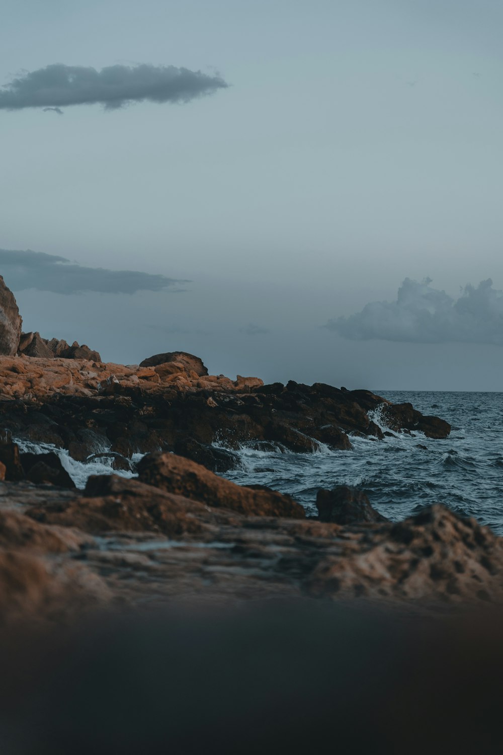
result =
M388 521L385 516L373 509L365 493L348 485L338 485L332 490L319 490L316 507L321 522L348 525Z

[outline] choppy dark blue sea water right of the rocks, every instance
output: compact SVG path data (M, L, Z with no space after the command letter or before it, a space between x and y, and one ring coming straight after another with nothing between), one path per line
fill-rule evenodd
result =
M225 476L290 493L308 513L317 513L318 488L335 485L357 485L395 521L440 502L503 535L503 393L376 393L448 421L449 438L431 440L422 433L382 441L351 438L353 451L321 445L314 454L242 448L241 469ZM379 416L375 421L379 424Z

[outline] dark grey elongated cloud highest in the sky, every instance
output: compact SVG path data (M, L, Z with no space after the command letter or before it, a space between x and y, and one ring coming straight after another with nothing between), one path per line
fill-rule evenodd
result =
M100 103L117 109L128 103L187 103L212 94L228 84L219 75L175 66L108 66L97 71L84 66L54 63L23 72L0 88L0 109L44 107L56 110L69 105Z

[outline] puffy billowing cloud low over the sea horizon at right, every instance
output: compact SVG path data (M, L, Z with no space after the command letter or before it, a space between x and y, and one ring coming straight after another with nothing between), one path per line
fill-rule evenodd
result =
M503 291L492 280L466 285L459 299L431 288L431 279L406 278L397 300L373 301L349 317L331 319L326 328L354 341L379 338L424 344L462 343L503 346Z

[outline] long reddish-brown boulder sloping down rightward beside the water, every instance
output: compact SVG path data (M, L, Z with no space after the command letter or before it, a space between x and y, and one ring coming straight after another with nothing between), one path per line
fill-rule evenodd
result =
M138 464L138 473L142 482L207 506L231 509L247 516L305 517L302 506L289 495L235 485L201 464L174 454L144 456Z

